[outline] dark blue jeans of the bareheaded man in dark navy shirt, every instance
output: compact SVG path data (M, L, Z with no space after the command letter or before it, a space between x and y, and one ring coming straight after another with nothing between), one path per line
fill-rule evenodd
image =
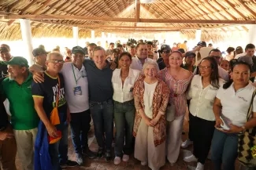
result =
M91 117L95 125L95 137L100 149L105 148L106 133L106 151L110 151L113 140L113 100L104 102L90 101Z

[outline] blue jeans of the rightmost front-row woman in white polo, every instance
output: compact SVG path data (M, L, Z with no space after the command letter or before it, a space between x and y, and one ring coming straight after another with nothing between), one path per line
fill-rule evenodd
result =
M238 149L238 135L221 132L215 129L212 141L212 161L214 170L235 170Z

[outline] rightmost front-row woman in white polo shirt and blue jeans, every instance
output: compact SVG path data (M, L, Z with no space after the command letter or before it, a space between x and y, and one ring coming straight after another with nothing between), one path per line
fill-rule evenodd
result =
M238 150L238 133L256 125L256 98L253 100L253 116L247 121L247 111L255 87L251 84L250 65L236 61L232 66L231 78L217 91L213 103L216 129L212 141L214 170L235 170Z

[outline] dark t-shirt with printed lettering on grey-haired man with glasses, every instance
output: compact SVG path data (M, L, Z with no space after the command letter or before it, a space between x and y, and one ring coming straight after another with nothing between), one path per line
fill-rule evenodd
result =
M44 81L42 83L36 83L32 81L32 95L33 97L43 97L43 109L50 119L50 113L56 106L56 99L58 96L58 115L61 121L61 125L57 125L57 128L63 128L67 120L67 103L65 100L64 91L64 79L62 74L58 74L60 78L60 93L58 94L58 78L53 78L46 72L44 72Z

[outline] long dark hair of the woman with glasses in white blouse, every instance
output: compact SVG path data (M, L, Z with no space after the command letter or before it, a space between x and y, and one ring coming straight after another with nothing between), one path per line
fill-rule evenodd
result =
M213 87L219 89L219 69L217 60L215 60L213 57L207 56L206 58L203 58L198 65L200 65L203 60L208 60L210 62L210 67L213 70L210 74L210 84L213 85Z

